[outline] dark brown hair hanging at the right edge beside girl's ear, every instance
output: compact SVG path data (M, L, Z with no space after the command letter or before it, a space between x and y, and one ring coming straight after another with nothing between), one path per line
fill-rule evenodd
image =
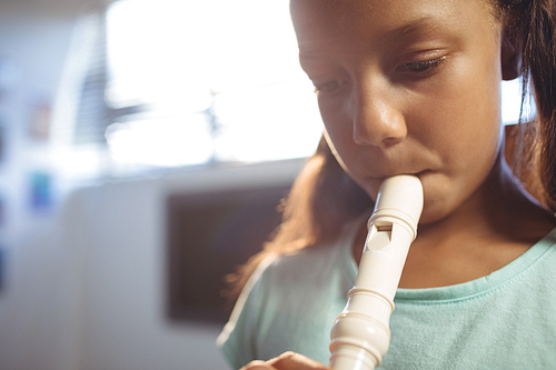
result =
M522 50L522 114L530 94L536 117L522 123L513 170L545 207L556 210L556 4L554 0L498 0ZM532 91L529 91L532 88Z

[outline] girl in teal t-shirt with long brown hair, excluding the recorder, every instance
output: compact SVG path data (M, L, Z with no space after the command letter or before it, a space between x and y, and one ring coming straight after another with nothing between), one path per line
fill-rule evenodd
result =
M380 368L556 368L554 0L290 7L325 139L240 276L231 364L326 369L378 187L410 173L425 207ZM519 76L537 118L505 148L499 84Z

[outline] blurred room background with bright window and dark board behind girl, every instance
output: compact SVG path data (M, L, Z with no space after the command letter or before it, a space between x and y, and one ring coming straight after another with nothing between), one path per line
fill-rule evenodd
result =
M227 369L312 90L287 0L0 0L0 369Z

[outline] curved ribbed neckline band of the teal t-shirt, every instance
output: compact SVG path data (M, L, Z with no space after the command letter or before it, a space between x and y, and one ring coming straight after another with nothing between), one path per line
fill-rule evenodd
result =
M347 271L349 278L354 281L357 278L358 266L351 253L351 246L356 238L357 230L361 220L358 219L349 226L345 237L342 238L344 260L347 262ZM470 280L467 282L438 287L438 288L419 288L408 289L398 288L396 291L395 301L401 303L404 301L411 301L413 303L441 303L454 302L455 300L465 300L476 296L486 294L489 291L499 289L506 284L512 283L520 276L527 273L536 263L538 263L545 256L554 252L556 248L556 228L553 229L538 242L533 244L522 256L514 261L504 266L503 268L493 271L490 274Z

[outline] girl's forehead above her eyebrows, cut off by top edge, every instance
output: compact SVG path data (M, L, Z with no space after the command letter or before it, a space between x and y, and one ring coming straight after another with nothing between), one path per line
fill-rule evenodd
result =
M416 27L465 32L497 23L489 0L291 0L290 8L298 40L306 41L403 34Z

